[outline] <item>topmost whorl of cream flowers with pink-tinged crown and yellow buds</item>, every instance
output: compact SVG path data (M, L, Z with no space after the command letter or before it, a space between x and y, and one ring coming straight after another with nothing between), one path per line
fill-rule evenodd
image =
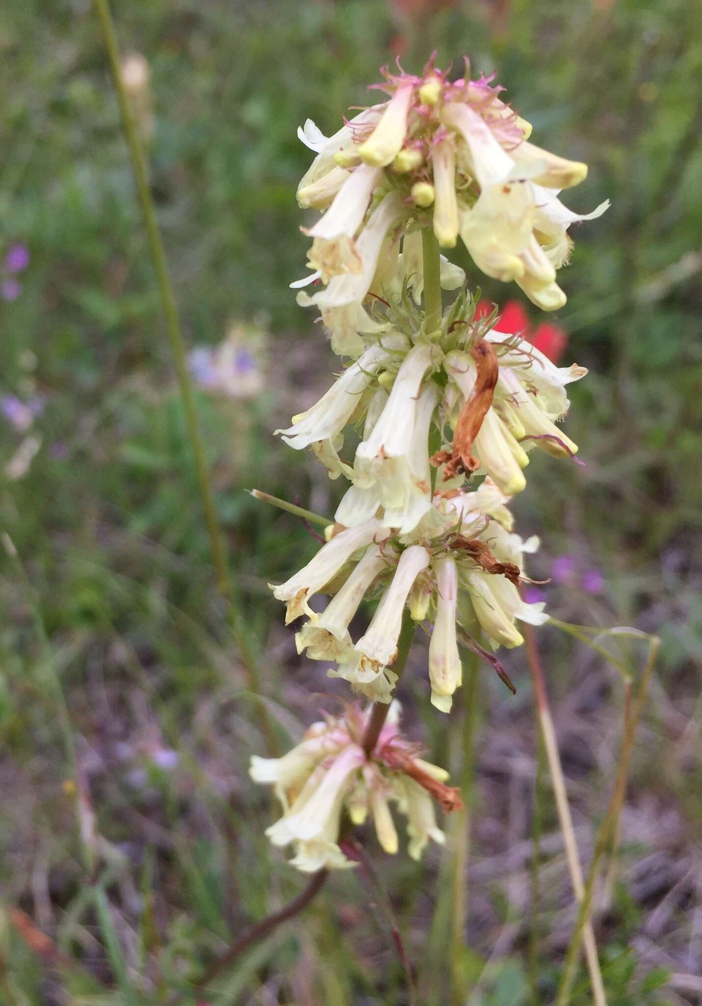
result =
M325 285L311 297L303 292L299 302L321 310L335 351L362 352L362 337L375 330L364 301L385 297L398 237L417 224L430 225L446 248L461 237L483 273L515 281L543 310L562 307L556 271L570 256L568 227L608 205L578 214L558 198L582 181L586 165L530 143L531 126L502 101L503 89L492 77L471 79L468 62L465 76L453 81L432 61L421 76L385 77L377 89L389 100L334 136L310 120L299 132L317 157L298 200L325 213L306 229L314 272L294 286ZM415 275L421 284L420 267Z

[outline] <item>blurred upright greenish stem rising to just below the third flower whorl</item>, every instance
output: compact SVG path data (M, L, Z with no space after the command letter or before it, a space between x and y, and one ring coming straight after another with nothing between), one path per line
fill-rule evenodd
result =
M464 968L466 946L466 916L468 913L468 857L471 849L470 822L473 805L473 784L475 779L475 735L478 721L478 672L480 659L471 653L464 660L466 681L463 686L463 762L461 765L461 794L463 810L455 815L454 823L454 885L452 904L452 955L451 981L452 1004L464 1006L469 989Z

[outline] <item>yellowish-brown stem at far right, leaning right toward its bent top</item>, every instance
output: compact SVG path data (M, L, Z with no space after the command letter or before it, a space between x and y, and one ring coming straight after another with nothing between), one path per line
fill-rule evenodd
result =
M570 999L570 989L575 974L575 967L577 965L577 948L580 942L580 934L583 932L584 927L588 925L599 860L604 854L610 839L616 836L619 829L620 816L622 814L622 807L624 805L624 798L627 790L627 777L629 775L629 764L632 758L634 738L639 720L641 718L641 713L644 708L644 702L646 701L649 681L656 663L659 647L660 640L658 637L653 637L650 642L649 655L642 674L641 686L639 688L639 695L637 696L636 703L631 710L625 708L624 738L622 741L620 767L617 773L615 789L611 797L609 798L609 803L607 805L602 823L597 831L594 851L592 852L592 862L590 863L589 872L587 874L587 882L580 901L577 920L570 937L570 943L568 944L568 950L565 955L565 964L561 974L555 1006L566 1006L566 1003L568 1003Z

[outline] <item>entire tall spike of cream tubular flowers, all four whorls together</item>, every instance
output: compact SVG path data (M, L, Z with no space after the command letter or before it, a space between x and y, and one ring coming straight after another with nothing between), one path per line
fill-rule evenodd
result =
M322 547L271 586L286 623L304 619L298 652L372 703L313 724L282 759L251 760L252 778L274 784L283 804L269 838L292 844L291 861L305 871L351 865L348 821L368 814L395 852L388 802L408 817L414 856L427 838L443 841L431 797L447 811L458 806L444 770L398 733L393 695L407 629L428 637L431 702L449 712L461 647L512 687L490 650L520 646L518 623L548 618L543 604L522 600L524 555L538 539L514 532L508 503L526 486L533 448L574 458L577 446L556 424L568 410L566 385L586 371L557 367L520 333L498 330L497 307L487 317L478 309L480 293L468 293L463 270L438 247L461 237L483 273L514 280L554 310L565 302L555 278L570 254L568 226L608 205L579 216L560 202L585 165L533 146L502 89L472 80L468 63L454 81L433 61L421 76L385 77L376 88L388 100L331 138L310 121L300 131L317 156L298 200L324 212L303 228L314 272L293 286L313 285L298 300L319 309L333 350L350 362L278 433L349 486ZM440 288L458 291L449 307ZM326 607L316 595L330 599ZM372 615L359 633L365 602Z

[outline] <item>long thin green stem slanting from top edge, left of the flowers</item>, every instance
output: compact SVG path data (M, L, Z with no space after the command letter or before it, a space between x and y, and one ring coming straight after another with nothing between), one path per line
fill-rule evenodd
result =
M122 71L120 68L120 48L117 35L115 33L115 25L110 13L108 0L95 0L95 7L100 20L105 48L108 54L110 72L112 74L115 91L117 92L120 104L122 127L127 141L127 146L129 147L134 181L144 217L144 225L146 227L147 237L149 240L149 247L151 249L151 258L154 263L159 292L161 294L161 304L166 321L166 332L170 342L171 352L173 354L173 362L175 364L176 374L178 377L180 397L183 403L183 411L185 413L185 423L195 461L197 482L200 491L202 509L204 511L205 523L207 525L207 533L209 535L210 551L212 553L212 561L217 579L217 589L227 603L232 635L246 669L249 688L256 694L260 694L260 675L248 644L248 637L244 627L243 618L235 603L234 591L229 575L224 539L214 504L214 493L212 491L212 484L207 470L207 463L205 461L202 435L200 433L200 425L197 417L197 411L195 409L192 382L190 380L190 374L188 373L185 342L183 340L180 321L178 319L178 308L176 306L173 286L168 273L168 263L166 260L166 253L163 246L163 239L159 230L158 221L156 219L154 201L151 197L151 191L149 188L146 158L144 156L144 151L139 138L139 130L137 129L129 98L125 90L124 80L122 78ZM264 710L264 716L267 716L266 710ZM271 739L268 728L267 732L269 732L269 739Z

